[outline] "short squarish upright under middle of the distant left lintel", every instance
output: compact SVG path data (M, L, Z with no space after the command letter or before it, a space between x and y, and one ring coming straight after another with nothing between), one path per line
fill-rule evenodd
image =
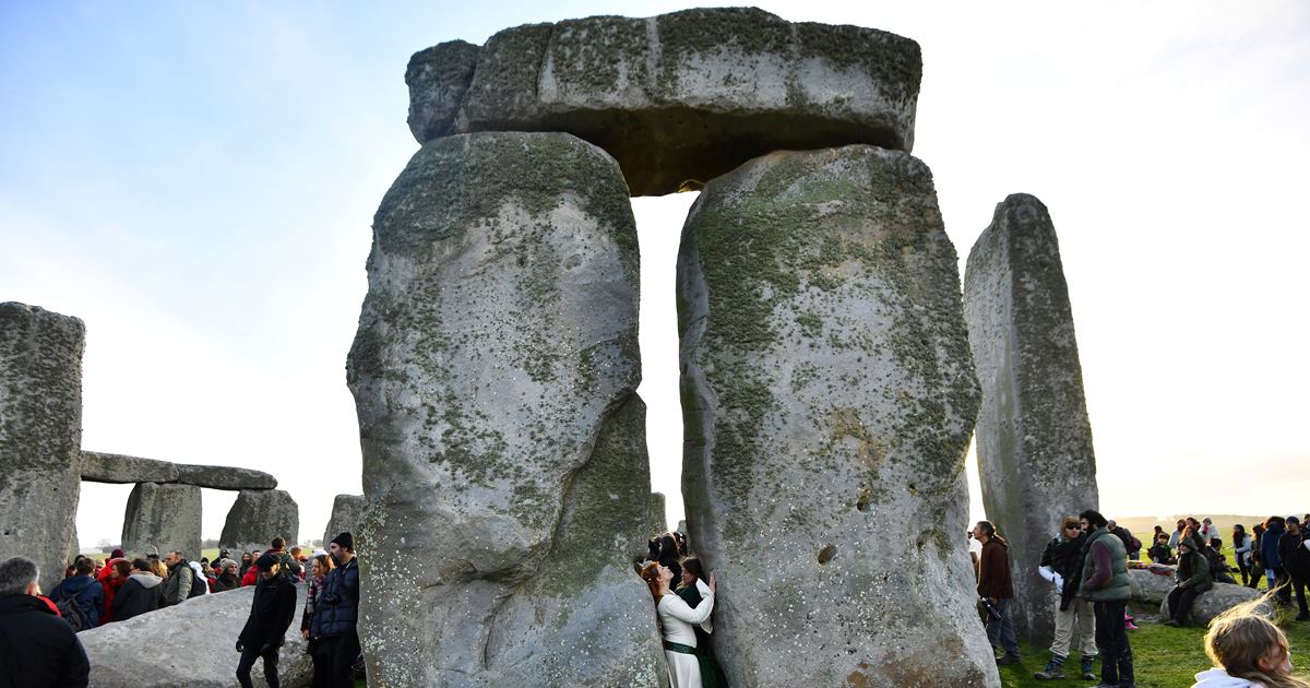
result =
M178 550L200 558L200 489L194 485L141 482L132 487L123 514L123 550L157 553Z

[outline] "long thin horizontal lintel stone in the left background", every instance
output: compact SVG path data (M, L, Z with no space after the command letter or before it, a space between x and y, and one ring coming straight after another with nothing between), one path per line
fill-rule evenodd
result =
M92 482L181 482L215 490L271 490L278 486L278 478L263 470L173 464L103 452L83 452L81 478Z

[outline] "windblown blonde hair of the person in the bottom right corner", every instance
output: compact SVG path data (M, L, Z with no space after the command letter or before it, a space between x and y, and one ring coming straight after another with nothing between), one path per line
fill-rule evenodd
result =
M1268 688L1310 688L1310 683L1279 667L1271 672L1260 668L1259 660L1268 660L1275 650L1279 659L1290 653L1286 634L1269 620L1271 609L1273 603L1265 594L1216 616L1205 633L1205 654L1233 678L1259 681Z

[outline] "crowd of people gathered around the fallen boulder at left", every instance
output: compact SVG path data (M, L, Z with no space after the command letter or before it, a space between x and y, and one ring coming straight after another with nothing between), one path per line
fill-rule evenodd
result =
M236 638L237 681L253 685L250 671L263 660L269 685L280 684L278 659L296 612L296 586L307 588L300 633L313 662L313 685L354 687L362 664L359 561L354 537L343 532L328 550L310 557L286 549L275 537L266 552L231 558L221 550L214 566L169 552L131 561L115 549L106 561L77 557L48 595L41 571L26 557L0 562L0 666L13 687L84 687L90 666L77 633L183 604L203 595L254 586L249 617Z

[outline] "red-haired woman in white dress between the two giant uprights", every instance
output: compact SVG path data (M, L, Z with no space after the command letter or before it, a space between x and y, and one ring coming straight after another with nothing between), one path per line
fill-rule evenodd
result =
M694 609L683 598L669 594L668 584L673 579L673 571L668 566L655 561L647 562L642 566L641 577L655 600L660 638L664 640L664 659L668 662L669 685L672 688L715 685L715 672L709 663L709 655L697 645L693 630L694 626L709 621L714 611L714 592L718 590L715 577L710 575L709 584L697 582L701 602Z

